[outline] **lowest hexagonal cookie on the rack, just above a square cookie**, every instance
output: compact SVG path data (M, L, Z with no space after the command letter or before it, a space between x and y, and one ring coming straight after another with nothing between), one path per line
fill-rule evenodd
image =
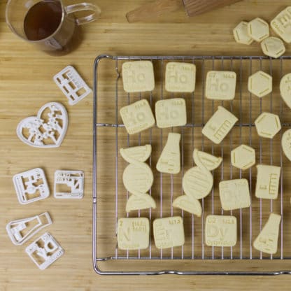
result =
M255 150L246 145L238 146L231 152L231 162L241 170L249 169L255 164Z

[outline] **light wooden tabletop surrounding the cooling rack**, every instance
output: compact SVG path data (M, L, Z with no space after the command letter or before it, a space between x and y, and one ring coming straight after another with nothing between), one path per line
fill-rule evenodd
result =
M93 0L90 0L93 1ZM71 1L72 2L72 1ZM94 1L95 2L95 1ZM220 10L187 18L181 8L148 23L128 24L125 13L145 0L99 0L97 22L83 27L77 50L52 57L14 36L5 23L6 1L0 2L0 290L289 290L290 276L99 276L92 268L92 95L69 106L52 76L72 64L92 87L92 65L101 53L111 55L261 55L260 45L239 45L232 29L241 20L260 16L270 21L290 1L244 0ZM291 55L287 45L286 55ZM49 101L69 111L62 146L43 150L17 139L17 123ZM48 199L20 205L13 188L15 173L41 167L50 189L57 169L85 172L82 200ZM104 181L106 182L106 181ZM6 223L49 211L51 232L65 250L50 268L40 271L13 246ZM31 241L31 240L30 240Z

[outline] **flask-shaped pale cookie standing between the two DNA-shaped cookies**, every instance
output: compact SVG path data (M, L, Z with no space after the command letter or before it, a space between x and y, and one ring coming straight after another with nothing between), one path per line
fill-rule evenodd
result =
M161 173L180 172L180 134L170 132L166 146L157 161L157 171Z

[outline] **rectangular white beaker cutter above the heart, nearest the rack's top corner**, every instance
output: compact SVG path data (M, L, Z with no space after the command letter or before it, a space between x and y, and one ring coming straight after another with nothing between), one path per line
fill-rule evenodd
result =
M66 66L53 79L66 98L69 99L70 105L77 104L78 101L92 92L73 66Z

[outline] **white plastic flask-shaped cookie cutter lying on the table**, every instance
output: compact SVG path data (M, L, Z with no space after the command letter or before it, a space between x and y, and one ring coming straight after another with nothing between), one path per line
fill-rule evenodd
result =
M52 224L52 220L48 212L31 216L30 218L22 218L13 220L6 225L6 231L11 241L20 246L38 233L44 227Z

